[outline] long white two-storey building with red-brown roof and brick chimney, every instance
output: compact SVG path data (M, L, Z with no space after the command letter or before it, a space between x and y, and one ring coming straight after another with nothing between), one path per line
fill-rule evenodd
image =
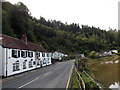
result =
M0 34L0 76L10 76L51 64L51 57L41 45Z

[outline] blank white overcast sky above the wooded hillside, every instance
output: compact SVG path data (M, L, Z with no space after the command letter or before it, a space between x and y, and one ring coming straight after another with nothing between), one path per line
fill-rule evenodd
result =
M6 0L23 2L33 17L57 20L68 24L118 29L118 2L120 0Z

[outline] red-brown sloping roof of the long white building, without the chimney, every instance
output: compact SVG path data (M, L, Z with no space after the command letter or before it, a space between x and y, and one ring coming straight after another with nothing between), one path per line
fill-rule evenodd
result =
M4 48L47 52L47 50L44 47L42 47L42 45L38 45L32 42L26 43L23 40L7 36L4 34L0 34L0 45L2 45L2 47Z

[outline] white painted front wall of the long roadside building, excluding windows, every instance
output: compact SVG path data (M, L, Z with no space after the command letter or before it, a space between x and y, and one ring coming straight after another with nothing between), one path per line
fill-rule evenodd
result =
M0 49L2 49L1 50L2 53L0 53L0 57L2 57L0 60L0 66L2 66L2 68L0 68L0 75L6 76L6 71L7 71L7 76L10 76L10 75L18 74L21 72L29 71L29 70L32 70L35 68L40 68L41 66L47 66L47 65L52 64L51 57L50 56L47 57L47 53L45 53L45 57L42 57L42 52L39 52L40 56L38 59L36 59L36 57L35 57L36 52L34 52L34 51L30 51L30 52L33 52L33 57L31 57L31 58L30 57L23 58L23 57L21 57L21 54L20 54L19 58L13 58L12 57L12 49L2 48L2 47L0 47ZM14 49L14 50L19 50L19 49ZM26 50L22 50L22 51L26 51ZM29 68L29 61L31 61L31 59L32 59L33 67ZM27 60L26 61L26 69L23 69L23 62L25 60ZM19 61L19 70L13 71L13 63L15 63L16 61ZM39 61L39 65L37 65L37 61ZM33 65L33 62L35 62L34 65Z

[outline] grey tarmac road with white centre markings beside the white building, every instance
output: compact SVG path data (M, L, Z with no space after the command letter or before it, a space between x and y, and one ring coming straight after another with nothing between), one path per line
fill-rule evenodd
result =
M3 88L66 88L73 62L74 60L57 62L19 77L11 76L10 79L3 80Z

